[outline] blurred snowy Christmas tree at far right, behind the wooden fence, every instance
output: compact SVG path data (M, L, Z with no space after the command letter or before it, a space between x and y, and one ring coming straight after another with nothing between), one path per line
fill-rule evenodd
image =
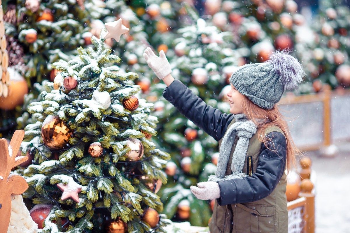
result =
M315 92L322 90L324 84L340 89L350 85L349 20L350 9L344 1L320 1L313 24L316 43L308 47L310 52L306 56L308 81L313 83Z

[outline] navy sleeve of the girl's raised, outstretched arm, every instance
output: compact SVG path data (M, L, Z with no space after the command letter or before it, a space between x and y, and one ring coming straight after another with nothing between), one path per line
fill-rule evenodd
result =
M215 140L220 140L233 119L232 114L208 106L181 81L174 80L163 91L166 100L172 103L182 115L207 132Z

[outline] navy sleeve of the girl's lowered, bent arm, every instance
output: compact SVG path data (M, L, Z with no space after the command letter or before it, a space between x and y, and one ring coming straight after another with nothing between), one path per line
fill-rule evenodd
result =
M287 144L280 132L271 132L267 147L261 143L258 166L252 176L244 179L218 181L219 205L258 201L267 197L276 188L286 167Z

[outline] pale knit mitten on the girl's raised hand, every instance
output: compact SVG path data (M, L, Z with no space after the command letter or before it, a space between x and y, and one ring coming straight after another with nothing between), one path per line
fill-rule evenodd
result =
M169 61L165 56L163 50L159 52L159 57L154 54L151 48L145 49L144 58L147 61L148 66L154 71L155 75L159 79L163 79L172 72Z

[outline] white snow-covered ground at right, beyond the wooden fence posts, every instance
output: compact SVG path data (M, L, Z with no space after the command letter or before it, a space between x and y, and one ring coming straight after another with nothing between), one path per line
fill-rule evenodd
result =
M350 143L339 145L334 158L308 152L317 174L316 231L317 233L350 232Z

